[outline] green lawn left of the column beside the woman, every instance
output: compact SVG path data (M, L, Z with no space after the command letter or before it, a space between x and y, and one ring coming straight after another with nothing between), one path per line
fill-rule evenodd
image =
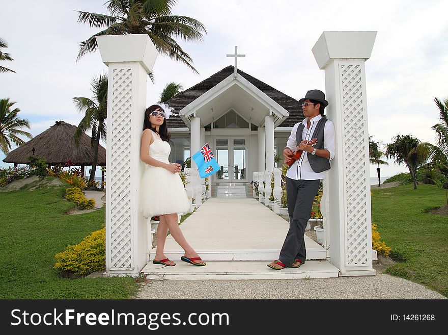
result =
M0 193L1 299L127 299L131 277L66 279L53 269L54 254L102 227L104 208L64 215L74 207L64 187Z

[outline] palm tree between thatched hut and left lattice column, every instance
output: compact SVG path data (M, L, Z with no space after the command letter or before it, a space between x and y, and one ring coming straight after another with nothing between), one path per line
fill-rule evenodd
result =
M91 86L93 100L83 97L73 98L76 109L81 113L85 113L85 116L79 122L73 137L76 145L79 144L79 139L81 138L82 133L92 129L92 148L94 157L89 184L92 184L95 180L100 138L103 139L103 141L106 139L106 124L104 120L107 118L107 74L101 73L93 78Z

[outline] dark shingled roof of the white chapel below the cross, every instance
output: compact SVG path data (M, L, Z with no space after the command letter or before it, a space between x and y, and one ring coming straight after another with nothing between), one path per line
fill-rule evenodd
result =
M223 68L219 72L216 72L206 80L202 81L199 84L190 87L189 89L179 93L178 95L171 98L166 103L175 108L176 112L179 112L182 108L190 104L190 102L199 98L202 94L225 80L229 75L234 72L234 67L232 65ZM275 88L263 83L262 81L254 78L253 76L238 70L238 73L243 76L249 83L253 84L267 96L269 96L272 100L277 102L278 105L282 106L289 112L289 117L283 121L279 126L281 127L292 127L297 122L300 122L304 119L303 111L301 106L299 106L299 101L296 99L282 93ZM185 123L182 121L180 116L171 116L167 120L167 126L169 128L181 128L186 127Z

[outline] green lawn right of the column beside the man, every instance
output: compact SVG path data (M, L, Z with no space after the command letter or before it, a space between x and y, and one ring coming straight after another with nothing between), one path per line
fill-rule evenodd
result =
M372 193L372 223L399 262L388 272L448 297L448 216L426 213L446 204L445 190L419 184Z

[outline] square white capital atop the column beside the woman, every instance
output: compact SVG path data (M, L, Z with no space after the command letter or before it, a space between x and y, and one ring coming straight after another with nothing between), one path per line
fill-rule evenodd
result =
M158 52L146 34L96 36L101 59L109 63L139 62L150 72Z

